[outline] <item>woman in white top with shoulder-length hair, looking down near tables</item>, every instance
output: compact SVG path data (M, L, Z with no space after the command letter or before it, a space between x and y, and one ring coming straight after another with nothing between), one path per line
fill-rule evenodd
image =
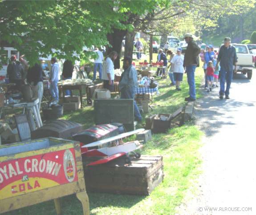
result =
M114 61L117 59L118 53L112 51L103 61L102 80L103 87L109 89L110 92L114 91Z

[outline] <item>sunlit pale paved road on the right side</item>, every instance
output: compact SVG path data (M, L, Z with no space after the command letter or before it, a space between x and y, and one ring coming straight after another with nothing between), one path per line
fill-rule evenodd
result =
M199 195L179 214L256 214L256 70L253 75L251 81L240 74L234 77L230 100L219 100L215 88L197 101L196 122L206 134L203 174ZM218 211L207 212L204 207ZM252 212L219 211L225 207L252 207Z

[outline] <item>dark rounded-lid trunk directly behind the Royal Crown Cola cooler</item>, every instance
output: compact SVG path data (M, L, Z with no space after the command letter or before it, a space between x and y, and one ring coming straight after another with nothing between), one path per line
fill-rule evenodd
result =
M31 133L31 139L54 137L63 139L72 139L72 135L82 131L82 125L67 120L55 120L49 124L34 130Z

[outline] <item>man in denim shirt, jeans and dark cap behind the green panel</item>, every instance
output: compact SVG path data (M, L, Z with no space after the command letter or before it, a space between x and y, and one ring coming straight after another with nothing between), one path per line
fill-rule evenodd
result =
M121 98L134 99L135 96L135 88L137 87L138 77L137 71L132 65L132 58L127 56L123 59L123 69L124 72L121 75L121 81L119 82L119 90L121 91ZM134 100L134 118L137 121L142 121L142 116L139 112L138 106Z

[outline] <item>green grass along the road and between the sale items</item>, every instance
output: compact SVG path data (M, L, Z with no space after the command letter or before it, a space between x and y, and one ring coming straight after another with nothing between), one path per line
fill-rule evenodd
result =
M196 70L196 88L201 85L203 71ZM188 86L186 75L181 85L182 91L170 87L169 79L158 81L160 95L154 95L154 110L152 113L173 113L184 105ZM197 94L197 97L201 97ZM145 117L145 116L144 116ZM88 128L93 125L93 107L85 106L63 117L67 120L79 122ZM144 121L140 124L144 126ZM202 132L188 122L181 127L170 129L166 134L154 134L152 140L144 145L142 154L162 155L164 163L164 180L149 196L112 195L89 193L90 213L99 215L126 214L175 214L175 208L180 205L188 188L200 174L201 159L198 149ZM61 198L62 211L65 215L82 214L81 203L75 195ZM25 207L7 213L9 215L53 215L53 201Z

